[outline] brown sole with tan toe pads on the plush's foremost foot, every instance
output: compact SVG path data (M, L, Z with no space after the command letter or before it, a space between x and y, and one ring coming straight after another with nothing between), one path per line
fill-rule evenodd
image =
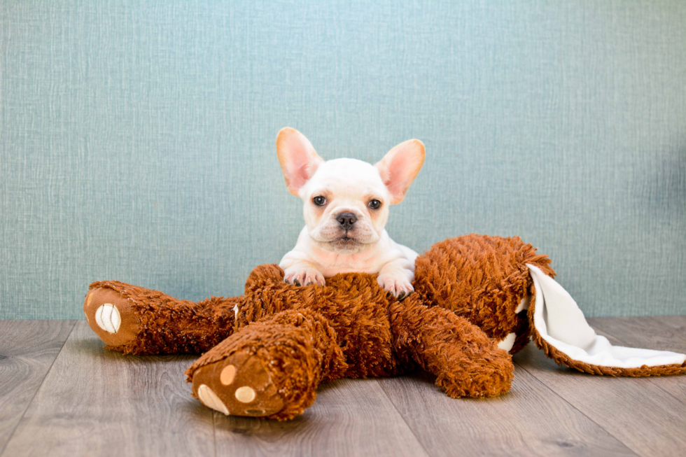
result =
M246 351L198 368L193 393L203 405L232 416L271 416L284 405L265 367Z

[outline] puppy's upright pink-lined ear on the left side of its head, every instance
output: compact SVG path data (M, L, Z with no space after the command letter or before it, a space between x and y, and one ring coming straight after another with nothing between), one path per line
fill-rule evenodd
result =
M297 195L304 183L309 181L319 165L324 162L312 144L296 129L283 128L276 136L276 154L286 178L288 192Z

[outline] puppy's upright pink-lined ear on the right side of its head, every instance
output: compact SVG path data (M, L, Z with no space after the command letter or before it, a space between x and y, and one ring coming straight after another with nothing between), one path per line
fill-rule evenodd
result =
M377 167L386 188L391 192L391 204L398 204L424 163L424 145L419 140L407 140L388 151Z

